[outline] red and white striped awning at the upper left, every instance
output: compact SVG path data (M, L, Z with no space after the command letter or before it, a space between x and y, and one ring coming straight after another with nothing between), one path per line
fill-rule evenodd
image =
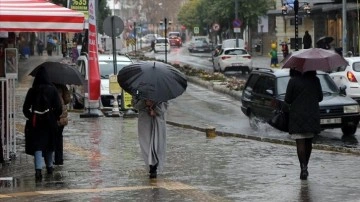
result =
M45 0L0 0L1 32L81 32L84 14Z

